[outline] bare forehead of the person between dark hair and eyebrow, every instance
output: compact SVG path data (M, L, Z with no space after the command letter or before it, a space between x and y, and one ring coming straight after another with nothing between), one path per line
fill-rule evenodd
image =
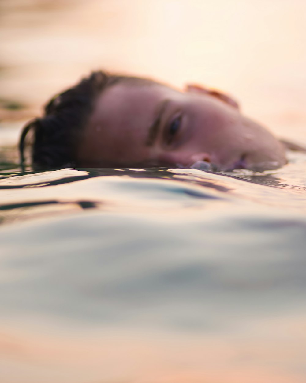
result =
M83 157L116 163L150 159L148 131L161 102L177 91L158 83L118 83L96 101L81 142Z

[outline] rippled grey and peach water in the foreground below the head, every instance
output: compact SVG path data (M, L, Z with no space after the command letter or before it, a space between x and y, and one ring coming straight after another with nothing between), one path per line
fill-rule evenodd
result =
M4 381L305 381L306 155L288 156L264 173L3 167Z

